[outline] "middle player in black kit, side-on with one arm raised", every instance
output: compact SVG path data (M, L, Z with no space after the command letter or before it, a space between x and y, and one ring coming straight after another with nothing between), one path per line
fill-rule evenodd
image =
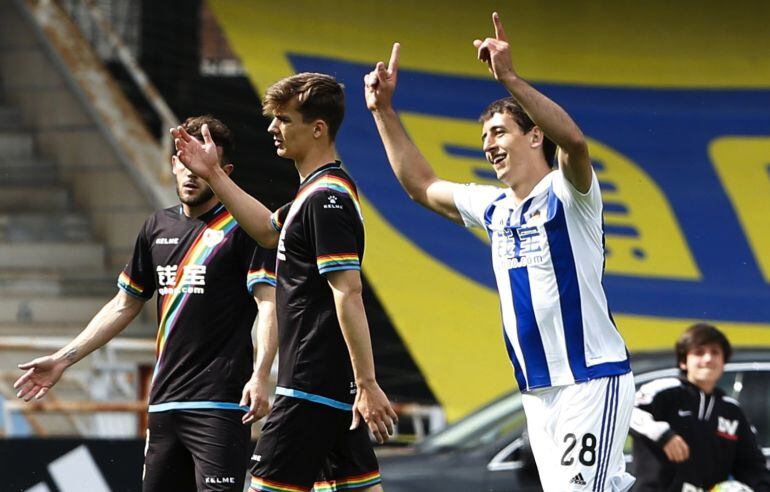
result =
M368 424L379 442L396 414L375 379L361 297L364 228L356 186L335 160L342 86L302 73L265 92L268 131L301 184L270 214L216 166L213 142L172 131L178 156L205 179L260 244L278 244L278 387L252 459L252 491L382 490Z

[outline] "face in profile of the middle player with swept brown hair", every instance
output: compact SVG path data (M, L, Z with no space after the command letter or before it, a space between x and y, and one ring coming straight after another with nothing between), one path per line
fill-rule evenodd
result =
M276 153L294 161L302 160L307 153L318 145L321 129L320 120L305 122L297 109L297 98L293 97L287 104L277 108L273 113L273 121L267 131L273 135Z

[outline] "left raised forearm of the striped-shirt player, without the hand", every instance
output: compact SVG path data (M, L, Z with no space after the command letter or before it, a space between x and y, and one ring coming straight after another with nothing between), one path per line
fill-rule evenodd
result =
M388 161L396 178L416 202L430 207L427 188L437 180L430 164L409 139L392 107L372 111Z

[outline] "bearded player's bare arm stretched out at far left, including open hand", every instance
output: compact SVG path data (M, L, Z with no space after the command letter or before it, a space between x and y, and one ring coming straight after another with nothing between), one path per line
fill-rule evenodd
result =
M72 364L103 346L139 314L144 300L124 291L118 294L93 317L88 326L70 343L52 355L38 357L19 364L26 371L13 385L19 390L16 396L30 401L40 399L59 381L62 373Z

